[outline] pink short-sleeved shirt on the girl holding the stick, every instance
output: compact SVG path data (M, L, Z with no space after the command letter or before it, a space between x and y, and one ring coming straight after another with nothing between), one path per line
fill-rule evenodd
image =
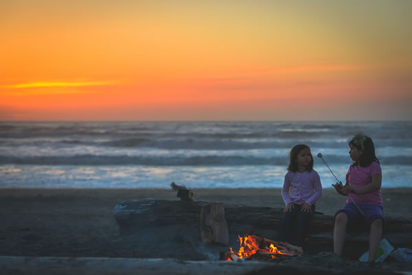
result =
M352 185L355 189L358 189L371 183L372 175L376 174L382 176L382 169L376 161L367 167L356 167L355 165L351 165L346 174L346 182ZM380 189L366 194L350 193L350 196L355 202L364 204L378 204L382 206L382 195L380 194ZM346 202L351 202L351 200L348 198Z

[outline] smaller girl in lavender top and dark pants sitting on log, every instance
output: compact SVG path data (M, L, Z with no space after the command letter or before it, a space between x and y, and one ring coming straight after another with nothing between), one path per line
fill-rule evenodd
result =
M321 179L313 169L308 145L295 145L289 154L282 198L286 204L277 232L278 241L301 246L306 222L314 213L314 205L322 195Z

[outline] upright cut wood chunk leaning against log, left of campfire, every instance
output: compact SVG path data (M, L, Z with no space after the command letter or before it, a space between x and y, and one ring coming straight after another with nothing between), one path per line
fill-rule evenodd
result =
M229 243L229 230L222 203L212 203L201 210L201 237L203 243Z

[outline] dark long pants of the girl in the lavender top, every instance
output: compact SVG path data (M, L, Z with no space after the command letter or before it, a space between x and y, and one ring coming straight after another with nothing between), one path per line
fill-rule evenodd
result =
M300 208L301 205L295 204L292 211L284 213L279 224L277 241L287 241L295 246L302 245L306 224L314 213L314 205L312 213L302 212Z

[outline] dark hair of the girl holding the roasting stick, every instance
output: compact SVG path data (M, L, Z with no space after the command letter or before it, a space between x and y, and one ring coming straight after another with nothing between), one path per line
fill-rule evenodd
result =
M372 141L369 136L365 136L365 134L363 133L356 134L350 140L349 145L352 145L358 150L362 150L362 154L358 160L361 167L367 167L374 161L376 161L376 163L379 163L379 160L375 155L374 141ZM358 162L354 162L354 165L358 165Z

